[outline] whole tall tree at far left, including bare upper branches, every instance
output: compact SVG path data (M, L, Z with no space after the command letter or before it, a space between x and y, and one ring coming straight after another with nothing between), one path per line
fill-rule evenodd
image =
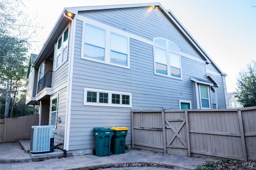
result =
M22 0L0 1L0 88L5 89L5 104L1 100L1 106L5 106L4 117L8 116L10 103L13 110L16 94L24 86L21 84L28 68L28 40L37 28L23 14L24 8Z

